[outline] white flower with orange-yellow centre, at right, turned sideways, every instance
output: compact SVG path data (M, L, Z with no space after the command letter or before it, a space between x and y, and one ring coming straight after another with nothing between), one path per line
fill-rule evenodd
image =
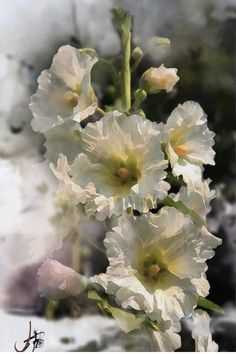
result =
M165 151L172 172L183 176L187 184L202 178L203 164L214 165L214 133L200 105L187 101L173 110L164 128Z

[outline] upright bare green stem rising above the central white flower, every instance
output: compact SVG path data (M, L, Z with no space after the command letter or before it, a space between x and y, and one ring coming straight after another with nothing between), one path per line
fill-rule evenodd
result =
M125 112L130 110L131 106L131 71L130 71L130 55L131 55L131 31L122 33L122 106Z

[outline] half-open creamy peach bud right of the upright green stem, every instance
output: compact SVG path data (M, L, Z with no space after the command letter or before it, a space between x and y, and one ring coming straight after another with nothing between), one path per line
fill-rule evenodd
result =
M162 64L159 68L149 68L145 71L141 86L149 94L158 93L160 90L170 92L178 81L177 69L168 69Z

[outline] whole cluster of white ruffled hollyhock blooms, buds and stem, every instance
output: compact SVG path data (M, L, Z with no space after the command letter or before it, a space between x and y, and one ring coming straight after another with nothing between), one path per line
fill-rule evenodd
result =
M125 52L130 18L121 10L116 16ZM109 266L86 279L47 260L40 289L58 298L87 288L125 332L145 329L157 349L172 351L180 347L180 320L196 316L199 298L209 293L206 261L221 243L206 226L214 191L202 174L204 165L214 164L214 133L193 101L175 108L165 124L145 117L139 105L146 95L169 92L179 80L177 69L164 65L142 75L138 92L145 95L140 99L136 91L131 105L124 61L122 105L118 100L101 109L91 84L98 60L93 50L61 47L40 75L30 107L58 179L62 237L81 218L110 219ZM172 181L179 186L175 194Z

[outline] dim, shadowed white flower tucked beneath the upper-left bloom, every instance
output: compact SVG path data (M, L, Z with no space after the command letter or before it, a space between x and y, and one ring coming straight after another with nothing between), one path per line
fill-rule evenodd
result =
M47 160L55 163L59 154L64 154L68 161L72 162L78 154L81 129L80 124L72 120L56 125L45 132L44 146L46 147L45 157Z

